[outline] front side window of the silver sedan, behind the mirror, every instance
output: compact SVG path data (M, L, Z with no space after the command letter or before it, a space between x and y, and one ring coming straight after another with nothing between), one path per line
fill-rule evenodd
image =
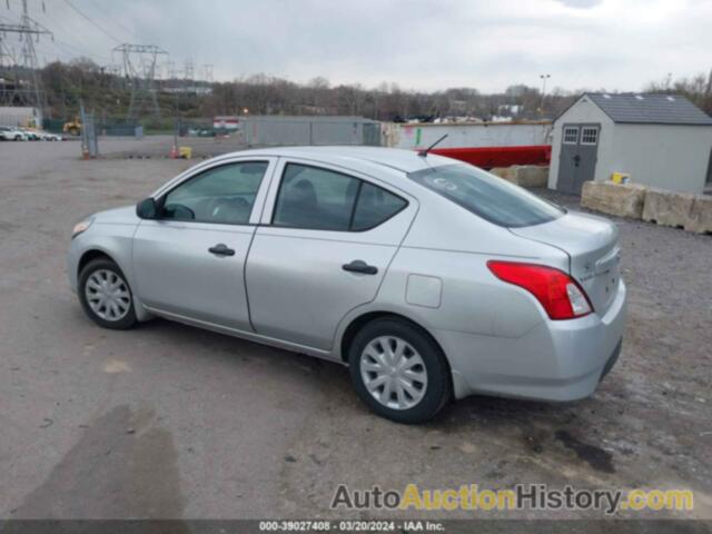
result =
M247 225L268 165L245 161L206 170L166 196L161 218Z

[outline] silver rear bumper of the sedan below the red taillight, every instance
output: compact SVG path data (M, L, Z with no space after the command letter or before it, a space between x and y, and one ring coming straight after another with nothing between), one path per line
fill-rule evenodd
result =
M517 338L436 330L457 398L492 394L537 400L585 398L619 358L626 289L621 280L603 316L545 319Z

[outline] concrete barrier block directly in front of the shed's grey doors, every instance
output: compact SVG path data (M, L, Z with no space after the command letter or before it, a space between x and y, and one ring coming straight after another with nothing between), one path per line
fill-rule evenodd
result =
M612 181L584 181L581 206L617 217L640 219L645 202L644 186L613 184Z

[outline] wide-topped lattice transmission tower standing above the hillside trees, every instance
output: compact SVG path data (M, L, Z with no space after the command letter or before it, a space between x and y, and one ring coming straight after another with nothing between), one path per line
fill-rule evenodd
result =
M113 49L123 56L123 76L131 86L129 119L136 119L144 110L160 117L156 89L156 63L168 52L156 44L119 44Z

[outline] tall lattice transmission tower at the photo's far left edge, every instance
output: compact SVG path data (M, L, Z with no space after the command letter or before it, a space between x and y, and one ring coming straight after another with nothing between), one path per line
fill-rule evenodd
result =
M3 40L8 33L18 33L22 47L19 58L10 50ZM34 41L39 42L41 36L50 36L52 32L39 22L34 21L27 8L27 0L22 0L22 16L20 23L10 23L0 20L0 105L2 106L28 106L37 109L44 109L44 92L41 89L37 77L39 62ZM11 76L6 78L6 71Z

